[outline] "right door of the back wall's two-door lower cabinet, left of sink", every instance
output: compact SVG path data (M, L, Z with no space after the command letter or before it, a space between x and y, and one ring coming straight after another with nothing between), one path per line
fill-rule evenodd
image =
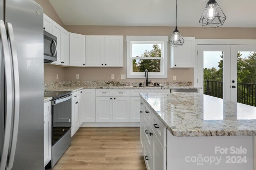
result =
M130 97L114 97L113 122L130 122Z

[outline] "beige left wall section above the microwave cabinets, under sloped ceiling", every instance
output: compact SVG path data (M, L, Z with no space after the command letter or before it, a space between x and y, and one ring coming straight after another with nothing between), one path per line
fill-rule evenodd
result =
M60 17L52 7L52 4L48 0L35 0L42 8L44 8L44 14L48 17L52 18L55 22L57 22L60 26L64 27L64 24L60 20Z

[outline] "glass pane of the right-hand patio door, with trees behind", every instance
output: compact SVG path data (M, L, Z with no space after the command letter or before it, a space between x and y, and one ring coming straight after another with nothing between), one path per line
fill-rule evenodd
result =
M237 52L237 102L256 106L256 52Z

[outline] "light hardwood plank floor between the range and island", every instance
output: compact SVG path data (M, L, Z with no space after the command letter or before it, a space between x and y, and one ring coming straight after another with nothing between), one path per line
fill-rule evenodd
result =
M53 170L146 170L139 127L81 127Z

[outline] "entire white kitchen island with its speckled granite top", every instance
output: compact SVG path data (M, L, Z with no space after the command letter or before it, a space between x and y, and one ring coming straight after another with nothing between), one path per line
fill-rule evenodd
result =
M140 93L148 170L255 170L256 107L199 93Z

